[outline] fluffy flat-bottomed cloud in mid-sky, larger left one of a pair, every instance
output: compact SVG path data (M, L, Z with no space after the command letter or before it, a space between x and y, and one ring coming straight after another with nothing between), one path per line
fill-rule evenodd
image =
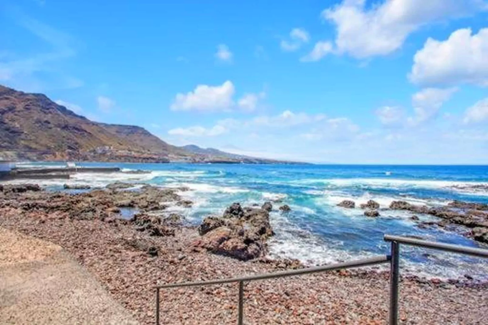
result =
M225 81L220 86L199 84L193 91L177 94L171 104L171 110L228 111L234 104L234 92L234 84L231 81Z

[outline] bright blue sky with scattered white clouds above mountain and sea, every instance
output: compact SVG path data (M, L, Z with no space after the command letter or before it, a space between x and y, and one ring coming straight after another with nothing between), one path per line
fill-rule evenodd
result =
M175 145L488 164L488 0L1 0L0 84Z

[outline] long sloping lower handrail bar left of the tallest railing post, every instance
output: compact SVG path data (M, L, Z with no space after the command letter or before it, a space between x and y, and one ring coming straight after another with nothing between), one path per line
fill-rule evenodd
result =
M282 272L250 275L250 276L245 276L245 277L241 277L241 278L221 279L221 280L213 280L213 281L186 282L186 283L175 283L175 284L163 284L163 285L157 285L156 288L176 288L176 287L183 287L183 286L223 284L223 283L232 283L232 282L240 282L240 281L246 282L246 281L264 280L264 279L283 278L283 277L287 277L287 276L339 270L342 268L360 267L360 266L381 264L381 263L386 263L389 260L390 260L389 256L381 255L381 256L371 257L371 258L367 258L367 259L361 259L361 260L357 260L357 261L345 262L345 263L328 264L328 265L323 265L323 266L306 267L306 268L300 268L300 269L296 269L296 270L288 270L288 271L282 271Z

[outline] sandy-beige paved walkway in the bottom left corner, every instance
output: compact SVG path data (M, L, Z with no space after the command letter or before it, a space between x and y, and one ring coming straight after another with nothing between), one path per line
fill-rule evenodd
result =
M58 245L0 228L0 324L138 324Z

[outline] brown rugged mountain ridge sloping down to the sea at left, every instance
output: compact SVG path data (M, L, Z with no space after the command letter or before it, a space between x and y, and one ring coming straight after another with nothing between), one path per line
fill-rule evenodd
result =
M0 85L0 160L112 162L275 163L202 149L177 147L142 127L93 122L43 94Z

